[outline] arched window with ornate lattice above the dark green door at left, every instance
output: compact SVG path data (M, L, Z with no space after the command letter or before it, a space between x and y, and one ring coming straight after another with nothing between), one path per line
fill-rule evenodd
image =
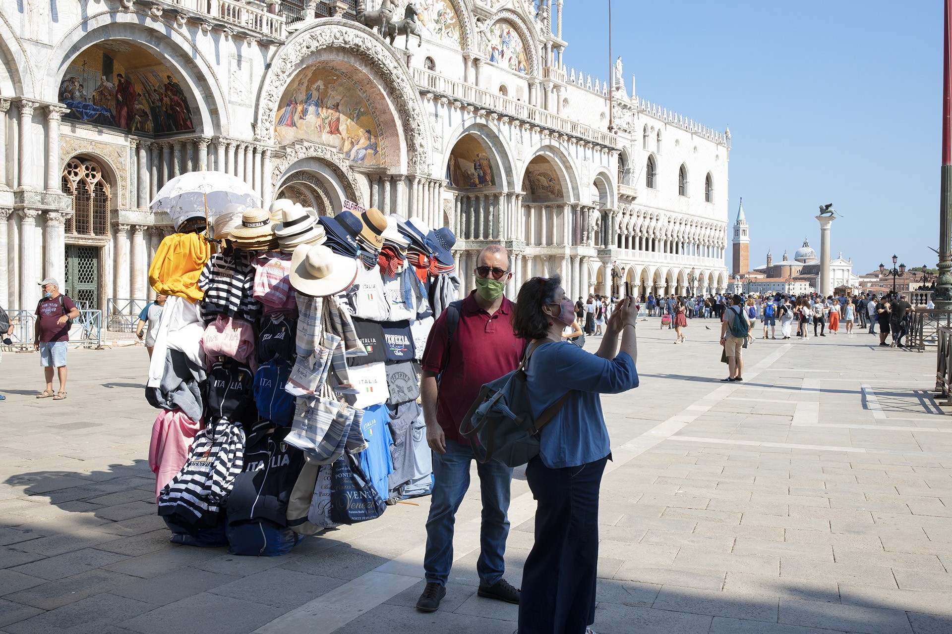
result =
M63 169L62 190L72 197L72 216L66 221L66 233L83 236L109 236L109 183L98 163L76 157Z

